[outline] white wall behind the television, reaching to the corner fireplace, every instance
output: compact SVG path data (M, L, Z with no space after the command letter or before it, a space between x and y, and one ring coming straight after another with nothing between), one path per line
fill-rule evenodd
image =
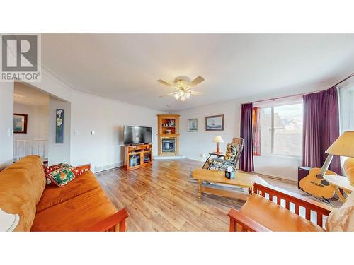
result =
M96 95L73 92L72 165L91 163L93 170L122 165L124 125L151 126L153 155L156 155L157 114L164 113ZM91 131L95 131L95 134L91 135Z

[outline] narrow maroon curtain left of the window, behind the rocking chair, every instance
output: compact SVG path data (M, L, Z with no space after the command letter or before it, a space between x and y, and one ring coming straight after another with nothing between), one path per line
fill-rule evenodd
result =
M240 169L252 172L253 167L253 139L252 139L252 103L241 106L241 137L244 139L244 149L240 158Z

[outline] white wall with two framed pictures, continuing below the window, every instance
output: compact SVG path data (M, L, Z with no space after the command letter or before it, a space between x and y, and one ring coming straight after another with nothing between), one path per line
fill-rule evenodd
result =
M244 100L229 100L212 105L195 107L180 112L180 153L186 158L205 161L207 154L215 151L216 144L212 143L215 135L221 135L224 143L220 148L224 152L226 144L233 137L240 136L241 104L255 101L257 98ZM224 131L205 131L205 116L224 114ZM198 118L198 132L188 132L188 119ZM202 154L205 157L202 157ZM261 155L254 157L254 171L281 177L284 179L297 180L297 167L302 164L301 158L284 157L279 155Z

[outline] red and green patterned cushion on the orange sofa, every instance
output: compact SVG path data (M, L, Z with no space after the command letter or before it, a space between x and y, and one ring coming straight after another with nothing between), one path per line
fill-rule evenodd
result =
M75 177L79 177L79 175L82 175L87 171L89 171L88 168L77 169L67 163L60 163L58 165L47 167L45 177L50 179L50 181L57 186L63 187L71 182Z

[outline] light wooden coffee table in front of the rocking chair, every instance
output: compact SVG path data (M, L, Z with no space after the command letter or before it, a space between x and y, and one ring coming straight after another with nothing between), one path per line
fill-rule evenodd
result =
M253 183L268 185L264 179L257 175L243 172L235 172L234 179L227 179L224 171L198 169L193 171L193 179L198 179L198 198L202 197L202 193L226 196L234 199L246 200L249 194L253 193ZM212 187L202 187L202 181L228 184L236 187L248 189L248 194L244 192L233 192L227 189L217 189Z

